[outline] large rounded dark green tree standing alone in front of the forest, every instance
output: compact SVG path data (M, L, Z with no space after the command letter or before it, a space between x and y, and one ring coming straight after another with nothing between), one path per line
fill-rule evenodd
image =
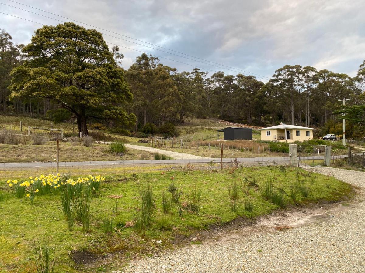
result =
M11 72L10 98L47 98L70 111L78 131L88 134L87 120L134 124L123 104L133 98L103 36L74 23L44 26L22 51L23 65Z

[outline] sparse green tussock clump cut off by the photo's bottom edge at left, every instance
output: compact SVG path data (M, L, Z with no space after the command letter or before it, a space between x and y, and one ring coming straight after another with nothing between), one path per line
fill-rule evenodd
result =
M37 239L32 254L37 273L54 272L54 250L49 246L48 239L43 238L41 241Z

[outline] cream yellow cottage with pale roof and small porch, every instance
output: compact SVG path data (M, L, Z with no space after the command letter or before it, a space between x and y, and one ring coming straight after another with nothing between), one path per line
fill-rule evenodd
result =
M280 125L259 130L261 131L261 140L293 142L312 139L315 129L280 123Z

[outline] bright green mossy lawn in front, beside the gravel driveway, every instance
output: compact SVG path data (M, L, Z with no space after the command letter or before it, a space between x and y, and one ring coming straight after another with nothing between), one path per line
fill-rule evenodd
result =
M28 175L39 174L30 172ZM295 203L305 205L309 202L339 201L352 195L348 184L333 177L320 174L311 177L307 171L291 167L247 167L222 171L165 170L126 175L116 171L105 175L106 181L101 184L98 196L93 198L91 207L96 209L96 214L92 217L90 232L85 233L78 222L74 231L68 231L67 223L50 195L36 195L33 205L29 198L16 198L6 180L21 181L21 177L9 176L0 182L1 193L8 195L0 201L0 271L34 272L32 246L34 240L42 236L49 238L50 246L55 248L55 272L110 271L122 266L128 257L136 253L153 254L171 247L178 238L209 229L211 225L227 223L237 217L251 219L280 209L280 206L260 194L260 188L264 189L265 178L270 175L274 177L275 192L283 194L287 208L295 206ZM299 181L300 185L303 183L303 187L309 191L306 198L297 191L296 202L291 200L290 194L294 181ZM174 209L172 214L163 216L161 193L171 183L182 190L182 204L194 203L192 185L201 190L200 203L194 203L200 208L198 215L185 210L179 216ZM230 207L229 183L238 185L236 212L231 211ZM142 236L134 228L124 225L135 220L136 208L141 208L139 190L147 184L153 186L156 202L150 226L145 236ZM170 196L170 193L167 194ZM245 210L246 201L252 203L252 211ZM103 233L100 224L105 213L114 215L116 229L110 235ZM71 257L85 260L87 266L75 264Z

